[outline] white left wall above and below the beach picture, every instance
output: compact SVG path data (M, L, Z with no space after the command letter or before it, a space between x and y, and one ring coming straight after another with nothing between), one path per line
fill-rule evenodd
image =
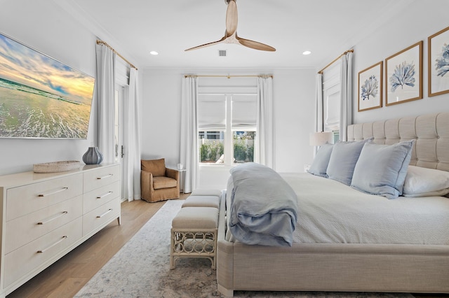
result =
M1 1L0 31L95 76L95 36L53 1ZM81 160L91 145L94 128L91 115L88 140L0 139L0 174L30 171L36 163Z

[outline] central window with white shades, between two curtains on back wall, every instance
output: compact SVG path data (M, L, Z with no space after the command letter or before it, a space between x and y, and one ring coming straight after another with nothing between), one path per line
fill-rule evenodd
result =
M199 94L201 164L254 161L256 99L253 93Z

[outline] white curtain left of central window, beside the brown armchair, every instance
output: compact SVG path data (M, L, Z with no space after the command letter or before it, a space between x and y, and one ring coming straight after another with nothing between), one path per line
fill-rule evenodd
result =
M182 80L180 162L185 165L184 192L192 192L199 183L198 155L198 78Z

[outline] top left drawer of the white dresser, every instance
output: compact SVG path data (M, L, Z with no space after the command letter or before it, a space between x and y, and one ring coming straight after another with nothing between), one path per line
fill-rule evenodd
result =
M82 175L77 173L8 189L6 221L83 194Z

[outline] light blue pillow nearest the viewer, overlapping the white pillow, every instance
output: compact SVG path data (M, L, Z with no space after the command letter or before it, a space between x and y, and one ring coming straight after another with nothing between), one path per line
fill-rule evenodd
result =
M351 187L388 199L402 194L415 140L393 145L366 143L358 157Z

